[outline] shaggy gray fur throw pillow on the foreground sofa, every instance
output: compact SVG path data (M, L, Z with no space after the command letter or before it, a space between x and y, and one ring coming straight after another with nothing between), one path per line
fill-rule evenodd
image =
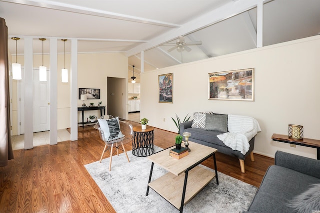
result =
M312 184L307 191L295 196L288 206L297 213L320 212L320 184Z

